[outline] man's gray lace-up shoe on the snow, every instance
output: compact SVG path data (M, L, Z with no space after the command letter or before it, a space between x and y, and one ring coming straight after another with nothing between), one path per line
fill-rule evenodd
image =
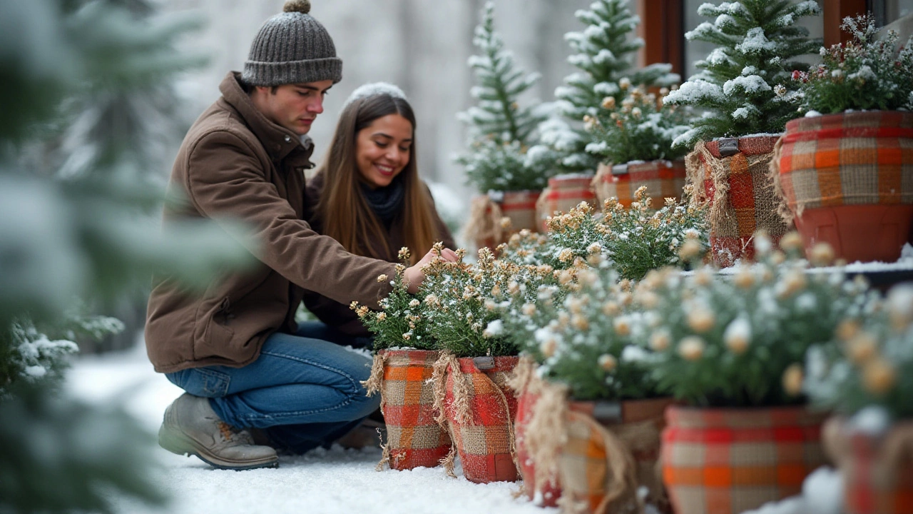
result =
M219 469L278 466L276 450L254 444L247 430L220 420L209 400L184 393L165 409L159 445L177 455L196 455Z

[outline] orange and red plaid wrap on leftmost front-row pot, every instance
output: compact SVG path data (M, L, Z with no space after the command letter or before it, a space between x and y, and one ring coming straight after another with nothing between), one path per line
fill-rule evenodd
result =
M438 352L383 352L383 421L392 469L437 466L450 451L450 436L437 424L431 375Z

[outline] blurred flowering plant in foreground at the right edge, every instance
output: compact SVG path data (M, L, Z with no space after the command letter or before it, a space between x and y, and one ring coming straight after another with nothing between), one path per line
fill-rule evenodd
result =
M847 415L877 406L894 420L913 418L913 286L895 286L885 304L845 320L835 344L809 350L803 391L814 403Z

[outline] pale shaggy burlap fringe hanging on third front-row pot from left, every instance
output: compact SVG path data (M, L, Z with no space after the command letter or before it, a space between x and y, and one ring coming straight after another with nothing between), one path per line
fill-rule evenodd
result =
M530 423L526 426L523 438L536 466L533 491L541 491L546 485L559 486L561 448L568 442L565 424L568 389L564 385L547 383L535 376L530 381L538 382L532 387L539 389L539 400L532 408Z

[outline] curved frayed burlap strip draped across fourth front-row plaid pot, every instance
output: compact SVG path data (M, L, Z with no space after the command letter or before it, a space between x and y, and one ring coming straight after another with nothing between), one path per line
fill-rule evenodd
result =
M615 434L609 432L603 425L596 423L591 416L581 412L568 411L566 414L568 423L582 422L587 424L591 430L601 434L603 444L605 444L605 465L606 465L606 490L605 498L593 510L593 514L607 514L613 502L623 498L631 498L635 502L635 512L644 512L644 503L637 495L639 487L637 480L637 466L634 455L628 450L627 446ZM571 494L568 494L571 493ZM589 512L589 502L586 498L573 498L573 491L563 490L558 505L561 512L573 514Z

